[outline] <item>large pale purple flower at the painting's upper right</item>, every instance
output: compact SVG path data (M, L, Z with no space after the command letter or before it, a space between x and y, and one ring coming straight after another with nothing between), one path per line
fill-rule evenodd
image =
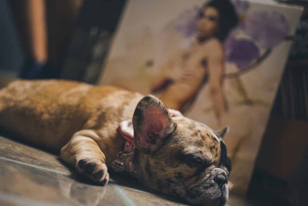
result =
M265 11L250 14L240 27L264 49L279 43L290 31L283 14Z

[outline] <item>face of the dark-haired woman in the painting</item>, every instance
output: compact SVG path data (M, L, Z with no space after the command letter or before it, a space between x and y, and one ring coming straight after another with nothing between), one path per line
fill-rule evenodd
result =
M219 12L209 6L203 10L197 23L196 36L198 39L207 39L219 31Z

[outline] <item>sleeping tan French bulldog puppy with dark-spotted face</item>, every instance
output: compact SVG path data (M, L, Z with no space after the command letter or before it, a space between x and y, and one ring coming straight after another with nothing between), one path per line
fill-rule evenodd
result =
M117 127L128 119L141 183L191 204L225 204L231 171L221 138L226 130L172 117L156 97L112 86L17 80L0 90L1 127L60 151L66 163L103 185L125 142Z

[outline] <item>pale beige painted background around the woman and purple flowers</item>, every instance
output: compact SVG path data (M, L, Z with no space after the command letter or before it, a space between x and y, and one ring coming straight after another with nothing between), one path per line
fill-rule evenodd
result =
M144 1L132 0L127 4L122 22L109 51L108 58L99 78L99 84L111 84L147 94L159 72L159 66L180 48L188 47L192 39L183 38L174 30L175 20L183 10L200 6L203 0L191 1ZM251 10L278 10L285 14L294 34L299 18L297 9L286 6L251 4ZM229 102L229 113L223 123L231 130L225 137L229 155L233 162L230 181L233 190L245 194L252 175L254 161L269 117L272 102L282 75L291 42L276 45L270 56L253 70L240 76L250 104L245 103L238 92L235 79L224 82ZM148 61L153 65L147 65ZM226 71L235 71L227 64ZM217 128L208 87L201 89L192 108L185 116Z

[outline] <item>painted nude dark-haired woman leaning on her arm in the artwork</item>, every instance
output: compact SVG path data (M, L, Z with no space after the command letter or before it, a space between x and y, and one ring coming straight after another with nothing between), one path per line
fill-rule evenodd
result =
M206 2L197 16L194 44L176 52L161 65L161 73L152 84L152 93L168 108L185 111L199 89L208 85L215 117L220 124L223 113L228 110L222 78L225 70L223 41L237 22L237 14L229 0Z

